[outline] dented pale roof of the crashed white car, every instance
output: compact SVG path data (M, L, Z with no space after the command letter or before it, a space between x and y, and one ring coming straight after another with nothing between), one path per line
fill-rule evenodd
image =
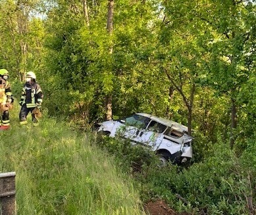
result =
M143 117L153 119L153 120L157 121L158 123L161 123L161 124L166 125L168 127L172 127L174 130L178 130L180 132L188 132L188 127L186 127L185 125L182 125L180 123L176 123L174 121L170 121L168 119L164 119L164 118L161 118L161 117L156 117L156 116L150 115L148 113L136 113L136 114L141 115Z

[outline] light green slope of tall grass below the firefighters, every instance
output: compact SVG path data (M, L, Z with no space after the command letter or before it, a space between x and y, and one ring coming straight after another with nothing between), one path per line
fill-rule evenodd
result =
M0 132L0 172L16 172L18 214L142 214L132 182L111 158L94 146L92 134L79 134L49 119L39 127L18 123Z

